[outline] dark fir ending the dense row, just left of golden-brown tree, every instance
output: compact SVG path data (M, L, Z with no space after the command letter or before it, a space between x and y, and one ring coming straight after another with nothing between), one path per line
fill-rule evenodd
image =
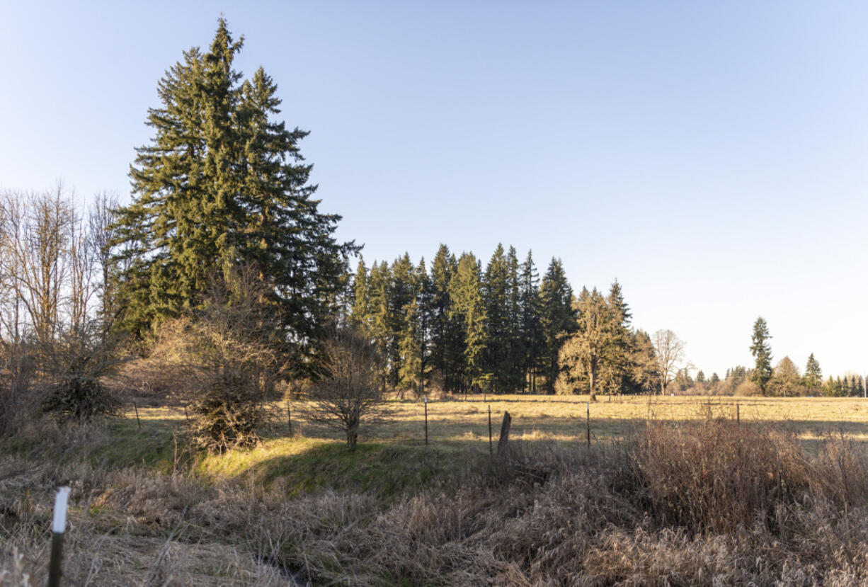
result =
M552 259L540 284L540 321L543 346L540 357L547 392L555 391L555 381L560 371L558 353L563 344L563 334L575 331L575 310L572 306L573 290L569 287L562 262Z

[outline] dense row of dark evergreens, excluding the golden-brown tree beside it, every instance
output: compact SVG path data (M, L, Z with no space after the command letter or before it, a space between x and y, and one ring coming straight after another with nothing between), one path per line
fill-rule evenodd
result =
M404 254L360 259L349 318L385 358L381 385L401 391L553 391L562 333L575 327L572 288L552 259L498 245L484 267L441 245L428 267Z

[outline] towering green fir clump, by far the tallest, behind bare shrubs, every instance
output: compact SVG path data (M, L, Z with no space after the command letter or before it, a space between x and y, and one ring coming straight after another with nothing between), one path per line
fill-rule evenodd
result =
M207 52L190 49L159 82L148 111L155 135L137 150L133 201L119 211L118 326L137 337L197 307L214 274L253 266L277 309L285 338L301 351L336 310L352 243L333 232L340 217L319 212L311 167L279 114L271 78L240 83L234 41L220 19Z

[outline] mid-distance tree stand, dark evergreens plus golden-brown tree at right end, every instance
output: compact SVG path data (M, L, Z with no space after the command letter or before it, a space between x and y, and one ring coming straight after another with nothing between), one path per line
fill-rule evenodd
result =
M441 245L428 267L404 254L358 263L349 319L385 358L380 385L398 391L648 392L659 385L648 333L615 281L576 298L562 262L542 279L532 253L498 245L483 269ZM585 360L587 359L587 360Z

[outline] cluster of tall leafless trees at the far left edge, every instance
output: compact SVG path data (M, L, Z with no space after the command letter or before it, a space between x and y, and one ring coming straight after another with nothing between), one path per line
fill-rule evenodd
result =
M0 342L7 413L42 406L62 419L89 419L117 407L100 382L116 359L106 336L93 337L99 328L91 301L101 284L94 279L89 228L62 185L50 192L0 195ZM43 393L23 402L30 379L38 379L34 389Z

